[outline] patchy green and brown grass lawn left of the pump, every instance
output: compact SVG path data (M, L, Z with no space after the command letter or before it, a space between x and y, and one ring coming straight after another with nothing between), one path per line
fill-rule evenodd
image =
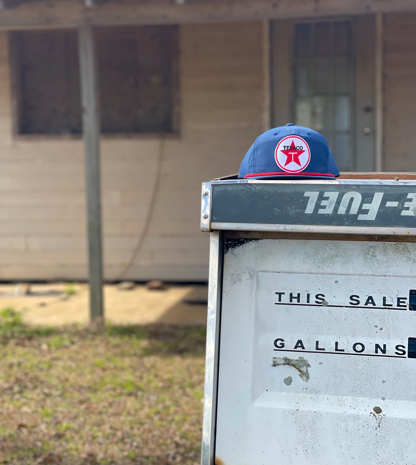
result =
M197 464L204 328L25 326L0 312L1 464Z

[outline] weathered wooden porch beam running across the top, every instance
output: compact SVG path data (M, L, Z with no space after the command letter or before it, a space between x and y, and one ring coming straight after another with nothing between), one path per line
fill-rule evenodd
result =
M22 2L0 10L0 28L77 27L87 20L96 26L133 24L185 24L287 18L339 14L416 11L414 0L203 0L177 5L170 0L152 2L107 1L85 7L81 1Z

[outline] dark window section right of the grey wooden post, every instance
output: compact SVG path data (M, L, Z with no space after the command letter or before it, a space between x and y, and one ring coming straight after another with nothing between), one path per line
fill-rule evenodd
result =
M97 30L104 133L172 131L175 27Z

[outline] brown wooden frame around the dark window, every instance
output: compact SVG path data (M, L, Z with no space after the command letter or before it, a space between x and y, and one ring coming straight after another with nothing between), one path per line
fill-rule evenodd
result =
M143 25L146 26L146 25ZM128 27L128 26L126 26ZM141 27L141 25L137 25ZM161 25L163 27L163 25ZM115 27L117 28L117 27ZM75 31L77 28L65 27L65 28L42 28L40 31ZM13 31L7 31L7 42L8 42L8 62L9 62L9 73L10 73L10 100L11 100L11 120L12 120L12 139L31 141L31 140L82 140L83 134L81 133L67 133L67 134L36 134L36 133L22 133L22 105L23 98L21 95L21 74L20 74L20 47L19 47L19 33L30 31L30 29L19 29ZM174 46L172 53L172 106L171 106L171 117L172 117L172 130L169 132L115 132L115 133L100 133L100 138L103 140L114 140L114 139L138 139L138 140L161 140L161 139L172 139L178 140L181 137L181 125L180 125L180 25L174 25L173 40ZM98 53L97 53L98 55ZM81 79L80 79L81 81ZM81 98L81 96L80 96Z

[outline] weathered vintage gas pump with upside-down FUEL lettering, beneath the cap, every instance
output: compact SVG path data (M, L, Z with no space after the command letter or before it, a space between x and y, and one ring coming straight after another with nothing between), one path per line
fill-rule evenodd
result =
M203 184L202 464L415 463L416 177L349 177Z

